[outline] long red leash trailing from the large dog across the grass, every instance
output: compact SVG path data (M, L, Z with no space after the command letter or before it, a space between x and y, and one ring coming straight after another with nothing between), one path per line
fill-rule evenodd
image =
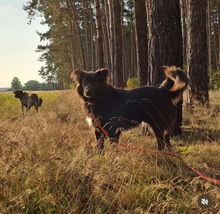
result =
M102 128L98 121L96 120L95 118L95 115L92 113L92 117L96 123L96 125L99 127L99 129L108 137L108 132ZM171 156L171 157L175 157L175 158L179 158L180 160L182 160L192 171L194 171L197 175L199 175L200 177L204 178L205 180L213 183L213 184L218 184L220 185L220 180L216 180L216 179L213 179L213 178L209 178L207 177L206 175L202 174L201 172L197 171L196 169L194 169L192 166L190 166L183 158L181 158L180 156L178 155L175 155L173 153L169 153L169 152L164 152L164 151L160 151L160 150L154 150L154 149L147 149L147 148L141 148L141 147L135 147L135 146L127 146L127 145L124 145L122 143L119 143L119 145L121 147L124 147L124 148L127 148L127 149L132 149L132 150L139 150L139 151L142 151L142 152L157 152L157 153L160 153L160 154L164 154L164 155L168 155L168 156Z

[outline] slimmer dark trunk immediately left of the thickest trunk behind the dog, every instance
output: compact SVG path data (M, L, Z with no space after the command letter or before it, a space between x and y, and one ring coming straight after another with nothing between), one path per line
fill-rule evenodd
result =
M148 32L145 0L135 0L138 72L140 86L148 84Z

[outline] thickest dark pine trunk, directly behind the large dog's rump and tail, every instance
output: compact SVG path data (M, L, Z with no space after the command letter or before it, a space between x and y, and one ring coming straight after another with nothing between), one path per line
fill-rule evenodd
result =
M147 0L147 8L150 84L159 86L165 78L163 65L183 66L180 2ZM180 100L176 106L174 135L181 134L182 103Z

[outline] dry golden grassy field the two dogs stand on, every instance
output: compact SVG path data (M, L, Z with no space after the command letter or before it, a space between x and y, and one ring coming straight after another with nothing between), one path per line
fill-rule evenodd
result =
M0 93L0 213L220 213L220 186L198 177L181 160L106 142L96 150L74 90L36 92L43 104L22 116L12 92ZM174 152L220 180L220 91L210 107L184 108L183 134ZM140 127L120 142L156 149ZM212 206L201 209L208 194Z

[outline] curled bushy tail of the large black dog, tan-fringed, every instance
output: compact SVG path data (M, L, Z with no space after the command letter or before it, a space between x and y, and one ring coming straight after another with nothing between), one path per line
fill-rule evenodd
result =
M182 92L189 84L189 78L185 71L176 66L164 66L164 73L166 79L162 82L160 88L168 91L173 104L176 105L182 97Z

